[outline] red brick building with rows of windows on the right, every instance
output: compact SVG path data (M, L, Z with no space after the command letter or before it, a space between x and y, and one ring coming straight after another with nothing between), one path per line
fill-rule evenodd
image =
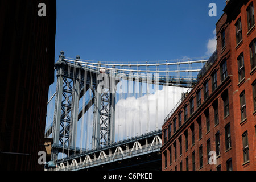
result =
M255 5L226 1L216 52L162 126L164 171L256 170Z

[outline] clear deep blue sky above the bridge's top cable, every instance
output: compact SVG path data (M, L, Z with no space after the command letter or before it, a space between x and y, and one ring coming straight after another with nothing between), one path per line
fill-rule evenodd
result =
M209 3L217 16L210 17ZM155 61L209 56L225 0L57 0L55 61Z

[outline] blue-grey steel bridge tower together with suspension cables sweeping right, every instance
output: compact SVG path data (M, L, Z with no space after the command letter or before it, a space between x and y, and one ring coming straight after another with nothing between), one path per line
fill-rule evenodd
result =
M191 87L196 84L197 77L180 77L179 74L169 76L169 72L198 72L199 69L192 70L192 63L204 63L208 60L184 61L179 63L162 64L101 64L80 61L76 56L74 60L64 57L64 51L60 52L59 60L55 64L57 84L55 94L55 109L53 124L47 129L46 137L52 133L53 148L51 160L56 161L59 152L68 156L77 154L76 135L77 122L93 106L93 134L92 148L109 146L114 142L115 135L115 86L122 79L137 82L147 82L166 86ZM169 70L168 65L189 64L188 70ZM118 68L116 68L117 66ZM136 67L134 69L132 67ZM155 70L149 67L154 67ZM125 69L127 68L127 69ZM142 68L142 69L139 69ZM163 70L159 70L159 68ZM131 72L137 72L138 77L130 78ZM146 75L143 73L144 72ZM157 77L150 77L150 72L162 73ZM100 73L105 73L107 78L99 80ZM165 74L165 75L164 75ZM101 81L108 80L109 87L98 92ZM93 96L79 109L79 101L86 91L90 89ZM79 151L82 151L80 148Z

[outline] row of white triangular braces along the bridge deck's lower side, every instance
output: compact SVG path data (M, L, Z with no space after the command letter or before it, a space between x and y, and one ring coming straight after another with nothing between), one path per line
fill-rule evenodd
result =
M160 147L162 147L162 143L156 144L154 146L147 146L144 145L142 148L139 148L138 150L133 150L130 148L128 151L123 152L123 154L118 155L106 155L104 158L85 158L84 161L77 162L76 159L72 160L71 165L65 166L63 163L61 163L55 171L76 171L79 169L94 167L94 166L100 166L102 164L115 162L118 160L123 160L127 158L133 158L134 156L143 155L145 153L148 154L148 152L155 152L160 151ZM86 160L87 159L87 160Z

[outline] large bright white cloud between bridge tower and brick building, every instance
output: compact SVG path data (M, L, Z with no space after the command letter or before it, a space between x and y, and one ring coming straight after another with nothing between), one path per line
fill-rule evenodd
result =
M119 100L115 105L115 140L117 135L122 140L161 129L164 119L180 100L181 93L186 91L187 88L163 86L154 94Z

